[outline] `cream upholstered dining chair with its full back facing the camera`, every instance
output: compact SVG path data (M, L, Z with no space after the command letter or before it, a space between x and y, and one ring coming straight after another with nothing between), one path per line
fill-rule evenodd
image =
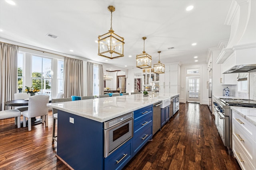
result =
M30 96L28 100L28 110L23 111L23 127L26 127L26 117L28 118L28 131L31 131L31 118L41 116L44 126L48 127L48 106L49 103L48 95L36 95Z

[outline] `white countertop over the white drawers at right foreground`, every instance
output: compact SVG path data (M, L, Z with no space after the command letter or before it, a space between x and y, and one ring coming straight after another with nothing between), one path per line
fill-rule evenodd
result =
M240 116L244 117L254 126L256 126L256 108L236 107L236 106L231 106L230 108L232 110L235 110Z

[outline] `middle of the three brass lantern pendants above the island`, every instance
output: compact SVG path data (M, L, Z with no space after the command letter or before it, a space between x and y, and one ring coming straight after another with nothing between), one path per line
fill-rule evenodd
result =
M148 53L145 52L145 39L147 37L142 37L144 41L144 47L143 47L143 52L142 54L136 55L136 60L137 60L137 66L138 68L151 68L151 56L148 55Z

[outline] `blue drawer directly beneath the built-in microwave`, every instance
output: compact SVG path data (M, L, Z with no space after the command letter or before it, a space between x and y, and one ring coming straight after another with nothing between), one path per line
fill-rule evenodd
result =
M132 139L104 159L105 170L121 170L132 158Z

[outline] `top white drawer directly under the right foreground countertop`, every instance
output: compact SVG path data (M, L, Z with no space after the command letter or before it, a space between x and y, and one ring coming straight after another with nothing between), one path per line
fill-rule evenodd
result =
M248 122L244 117L238 115L234 110L232 110L232 121L238 123L238 126L252 139L255 140L255 126Z

